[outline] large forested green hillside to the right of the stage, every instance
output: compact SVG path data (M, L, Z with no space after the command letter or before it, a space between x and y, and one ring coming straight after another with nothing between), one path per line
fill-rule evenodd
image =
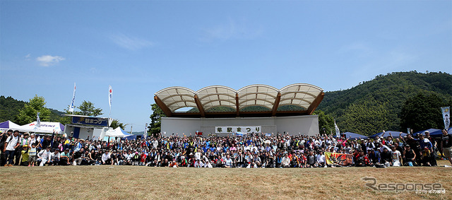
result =
M347 90L326 92L317 108L336 119L340 131L375 134L400 127L405 100L418 93L436 94L450 105L452 76L448 73L393 72ZM439 109L439 108L438 108Z

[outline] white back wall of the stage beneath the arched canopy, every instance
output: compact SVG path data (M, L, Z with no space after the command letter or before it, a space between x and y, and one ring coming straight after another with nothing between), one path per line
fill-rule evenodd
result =
M292 117L237 117L237 118L179 118L162 117L162 133L164 136L194 136L196 131L203 136L215 134L215 127L261 126L261 133L290 135L319 134L319 116L304 115ZM227 134L216 134L225 136Z

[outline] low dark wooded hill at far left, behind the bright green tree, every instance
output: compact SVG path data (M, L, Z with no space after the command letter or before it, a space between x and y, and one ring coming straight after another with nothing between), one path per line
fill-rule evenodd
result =
M16 100L14 98L7 97L1 95L0 96L0 122L5 122L7 120L11 120L11 122L17 123L17 115L19 113L19 110L22 109L25 104L28 102ZM49 108L50 110L50 122L59 122L61 119L61 114L64 114L64 112L61 112L59 110L54 110L52 108ZM19 124L23 125L23 124Z

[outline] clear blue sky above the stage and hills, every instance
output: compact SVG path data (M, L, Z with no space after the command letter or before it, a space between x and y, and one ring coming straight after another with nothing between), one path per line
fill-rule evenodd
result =
M452 73L452 1L0 1L0 95L83 100L142 131L170 86ZM128 126L126 129L130 129Z

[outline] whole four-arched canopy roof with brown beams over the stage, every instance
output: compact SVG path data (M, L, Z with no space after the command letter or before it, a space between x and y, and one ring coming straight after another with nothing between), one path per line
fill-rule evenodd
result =
M154 100L167 117L266 117L312 114L323 100L323 95L322 88L307 83L296 83L281 89L256 84L239 90L208 86L196 92L184 87L170 87L155 93ZM281 109L284 106L298 109ZM197 110L177 112L182 107Z

